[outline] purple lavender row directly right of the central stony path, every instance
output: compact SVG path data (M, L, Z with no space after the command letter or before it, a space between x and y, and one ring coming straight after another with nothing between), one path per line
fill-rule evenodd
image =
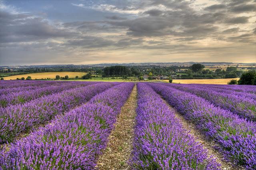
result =
M151 87L144 83L138 83L137 87L134 156L131 160L135 169L220 169Z

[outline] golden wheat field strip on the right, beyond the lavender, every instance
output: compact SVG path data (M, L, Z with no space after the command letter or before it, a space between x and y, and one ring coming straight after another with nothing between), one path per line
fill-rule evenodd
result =
M239 80L240 78L234 78L235 80ZM173 79L172 83L182 83L182 84L219 84L226 85L232 79ZM169 82L169 80L164 80Z

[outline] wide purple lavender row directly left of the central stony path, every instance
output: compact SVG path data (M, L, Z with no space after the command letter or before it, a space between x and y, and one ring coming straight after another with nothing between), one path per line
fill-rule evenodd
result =
M94 169L133 87L114 86L10 144L0 152L0 169Z

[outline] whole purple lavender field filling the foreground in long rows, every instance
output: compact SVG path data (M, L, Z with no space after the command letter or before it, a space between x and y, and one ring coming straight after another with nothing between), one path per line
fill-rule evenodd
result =
M255 86L1 81L0 170L97 169L134 88L134 117L123 118L134 122L123 129L133 136L130 156L108 156L104 162L119 165L104 168L221 170L230 162L230 169L256 169ZM177 113L217 144L222 162ZM126 145L112 150L126 154Z

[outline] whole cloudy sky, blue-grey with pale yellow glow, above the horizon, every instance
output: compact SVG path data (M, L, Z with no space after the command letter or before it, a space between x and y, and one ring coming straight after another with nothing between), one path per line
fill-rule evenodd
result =
M256 62L256 0L0 0L0 65Z

